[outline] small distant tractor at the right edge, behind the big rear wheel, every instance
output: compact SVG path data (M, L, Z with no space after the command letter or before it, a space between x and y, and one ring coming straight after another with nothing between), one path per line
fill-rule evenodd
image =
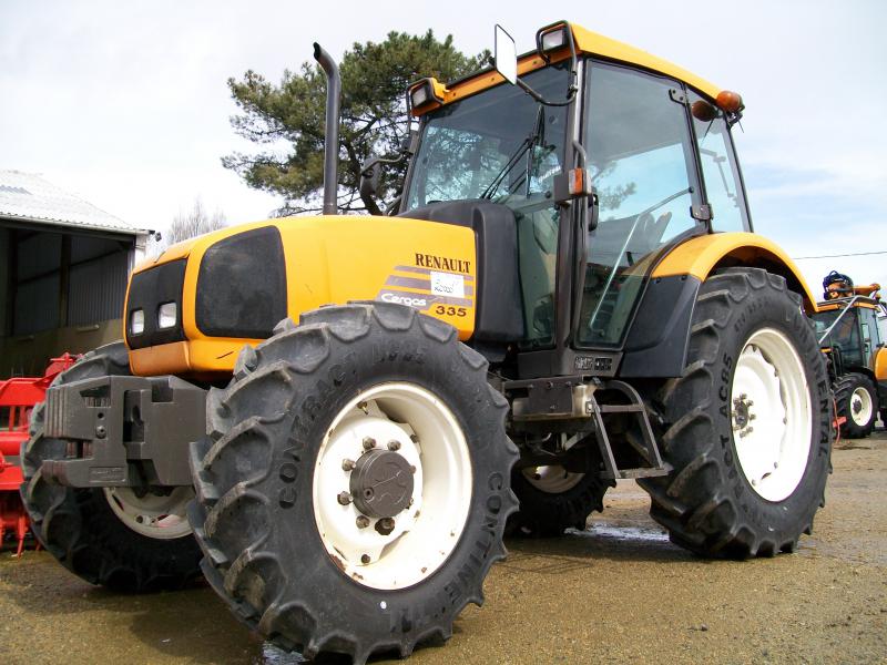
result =
M878 316L887 314L880 285L855 286L853 279L832 270L823 280L823 298L813 315L826 356L835 393L840 434L863 439L887 417L887 339Z

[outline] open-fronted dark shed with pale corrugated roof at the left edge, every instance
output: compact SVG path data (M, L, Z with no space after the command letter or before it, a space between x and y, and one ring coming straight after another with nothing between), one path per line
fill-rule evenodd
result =
M149 235L38 175L0 170L0 378L120 339Z

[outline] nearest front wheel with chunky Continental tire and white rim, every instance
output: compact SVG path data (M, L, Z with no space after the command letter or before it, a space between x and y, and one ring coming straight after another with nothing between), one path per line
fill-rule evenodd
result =
M283 321L210 392L211 434L192 444L206 579L309 658L448 638L504 555L507 408L486 360L409 307Z

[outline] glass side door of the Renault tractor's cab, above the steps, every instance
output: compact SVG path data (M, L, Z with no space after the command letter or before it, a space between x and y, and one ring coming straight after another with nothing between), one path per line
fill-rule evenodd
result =
M618 347L661 249L707 226L683 84L595 60L587 76L583 142L600 203L575 339Z

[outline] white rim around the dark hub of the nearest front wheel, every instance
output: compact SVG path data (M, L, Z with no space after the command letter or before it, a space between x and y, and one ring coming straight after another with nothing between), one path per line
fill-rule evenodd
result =
M392 515L384 535L381 520L367 518L349 492L345 460L364 453L364 440L385 449L397 441L397 454L415 468L411 505ZM380 590L405 589L439 569L452 553L471 505L471 458L462 429L434 393L412 383L383 383L358 395L339 411L317 452L314 519L336 565L356 582ZM358 518L369 523L360 526Z

